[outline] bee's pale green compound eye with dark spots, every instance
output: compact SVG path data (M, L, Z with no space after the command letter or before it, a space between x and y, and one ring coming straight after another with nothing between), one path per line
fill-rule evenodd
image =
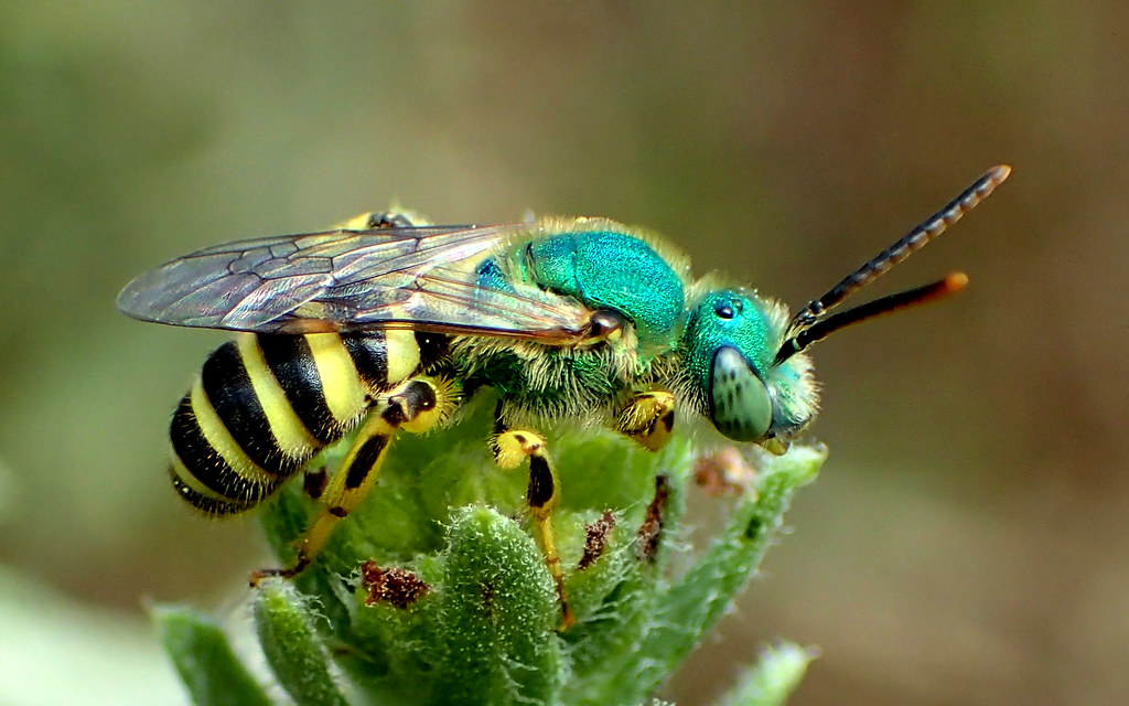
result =
M769 390L736 348L714 355L710 371L710 419L736 442L760 442L772 426Z

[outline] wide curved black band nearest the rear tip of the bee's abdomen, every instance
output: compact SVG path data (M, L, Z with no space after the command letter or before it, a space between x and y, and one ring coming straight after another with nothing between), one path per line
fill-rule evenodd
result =
M184 395L180 407L176 408L168 436L173 441L173 451L192 477L209 490L229 500L251 506L279 486L279 482L263 483L259 480L248 480L224 460L224 456L204 438L196 415L192 411L191 394Z

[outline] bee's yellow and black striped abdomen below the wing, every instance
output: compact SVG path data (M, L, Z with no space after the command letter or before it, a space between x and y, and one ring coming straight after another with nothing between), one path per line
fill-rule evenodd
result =
M364 418L373 399L414 374L411 331L240 334L211 354L173 416L173 486L201 511L260 503ZM431 351L425 351L425 358Z

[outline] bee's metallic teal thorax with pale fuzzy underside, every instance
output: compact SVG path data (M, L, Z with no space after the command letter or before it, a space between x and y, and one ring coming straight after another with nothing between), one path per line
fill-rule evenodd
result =
M568 229L514 243L479 265L480 287L540 288L613 311L632 325L633 350L624 341L570 349L473 339L455 347L464 384L495 387L504 400L550 417L606 407L679 346L686 282L675 267L627 229Z

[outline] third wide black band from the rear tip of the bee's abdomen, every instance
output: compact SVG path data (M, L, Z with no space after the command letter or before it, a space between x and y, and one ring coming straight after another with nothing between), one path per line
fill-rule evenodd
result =
M306 338L261 333L256 339L266 366L282 385L286 399L310 435L322 444L332 444L341 438L341 425L325 402L322 378Z

